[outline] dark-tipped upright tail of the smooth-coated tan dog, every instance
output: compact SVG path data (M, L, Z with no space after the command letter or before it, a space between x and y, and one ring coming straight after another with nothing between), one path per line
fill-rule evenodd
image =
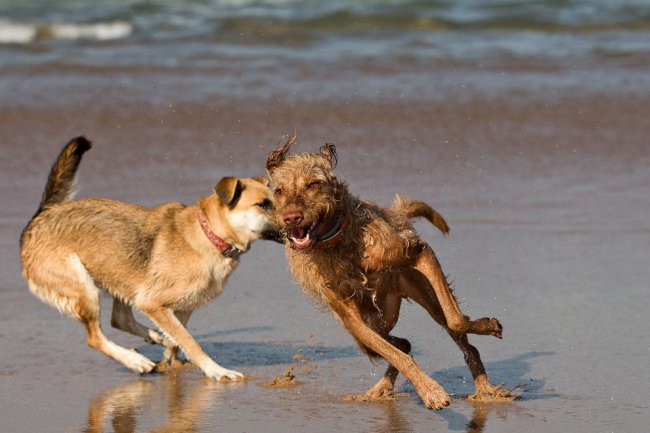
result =
M81 157L90 147L90 141L83 136L73 138L65 145L54 165L52 165L45 191L43 191L41 204L34 217L47 207L71 198Z

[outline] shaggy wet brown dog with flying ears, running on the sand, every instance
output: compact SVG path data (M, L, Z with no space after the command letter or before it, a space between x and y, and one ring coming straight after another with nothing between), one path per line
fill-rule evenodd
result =
M266 169L274 190L276 224L286 237L291 272L310 294L320 298L343 322L369 356L390 364L367 392L393 392L398 371L413 383L428 408L451 401L407 354L410 343L391 336L401 301L412 299L443 326L465 355L476 385L474 398L506 399L493 386L466 333L501 338L496 319L464 316L432 249L413 229L410 218L425 217L447 232L444 219L426 203L399 196L388 209L360 200L332 172L337 162L331 144L320 153L287 156L295 136L269 154Z

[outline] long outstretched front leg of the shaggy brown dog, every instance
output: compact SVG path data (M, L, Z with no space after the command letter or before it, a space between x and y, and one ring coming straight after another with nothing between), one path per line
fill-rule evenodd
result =
M343 326L361 344L388 361L408 380L430 409L442 409L449 406L451 399L445 390L424 371L409 355L397 349L383 339L363 321L358 307L353 301L342 301L334 292L325 290L325 297L330 307L343 322Z

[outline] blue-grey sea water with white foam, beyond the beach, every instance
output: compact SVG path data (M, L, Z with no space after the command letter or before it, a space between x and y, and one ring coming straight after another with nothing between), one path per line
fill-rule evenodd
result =
M208 93L430 99L634 93L649 66L641 0L0 0L0 80L167 71Z

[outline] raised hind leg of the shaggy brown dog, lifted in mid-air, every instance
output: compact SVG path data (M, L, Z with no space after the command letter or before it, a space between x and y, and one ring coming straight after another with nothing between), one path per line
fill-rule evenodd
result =
M426 276L431 286L433 286L449 329L456 332L493 335L501 338L503 328L497 319L483 317L478 320L469 320L467 316L463 315L456 298L449 288L447 279L442 273L440 263L428 245L425 246L416 259L415 269Z

